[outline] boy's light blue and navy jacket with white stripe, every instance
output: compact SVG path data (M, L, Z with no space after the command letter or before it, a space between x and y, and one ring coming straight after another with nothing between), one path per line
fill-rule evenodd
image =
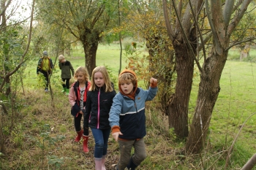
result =
M135 99L117 93L110 109L112 133L120 129L123 135L118 138L121 140L135 140L146 136L145 102L151 101L156 95L157 87L150 87L148 90L137 88Z

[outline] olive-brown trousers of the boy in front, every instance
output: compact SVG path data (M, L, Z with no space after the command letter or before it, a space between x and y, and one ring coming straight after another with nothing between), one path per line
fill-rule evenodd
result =
M132 140L132 141L121 141L118 140L119 143L119 149L121 152L119 161L118 161L118 170L124 170L131 158L131 150L132 147L135 148L135 153L132 155L132 161L135 163L137 166L140 165L140 163L146 159L146 148L145 148L145 143L144 139L140 140Z

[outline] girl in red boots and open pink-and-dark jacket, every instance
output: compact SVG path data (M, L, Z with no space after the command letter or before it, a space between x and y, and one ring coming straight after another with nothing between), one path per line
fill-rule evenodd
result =
M83 66L79 66L78 69L75 70L74 78L77 81L71 85L69 91L69 104L72 106L71 114L74 116L75 131L78 134L75 138L75 142L79 142L83 135L83 151L89 152L89 134L88 131L86 133L85 126L83 125L82 129L80 125L82 115L85 112L87 93L91 87L91 82L89 82L89 73Z

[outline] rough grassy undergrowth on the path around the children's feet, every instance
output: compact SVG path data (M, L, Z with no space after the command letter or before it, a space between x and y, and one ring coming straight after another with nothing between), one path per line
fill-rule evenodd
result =
M67 96L53 88L54 98L43 89L25 91L16 101L22 108L19 119L10 127L12 114L4 116L6 152L0 155L0 169L94 169L94 139L89 134L89 153L83 152L82 142L74 142L76 133ZM215 138L209 134L206 150L201 155L186 155L185 141L176 139L168 128L168 120L155 109L154 101L146 103L145 137L148 157L139 169L224 169L227 152L233 138L225 145L225 135ZM211 137L213 137L211 139ZM110 135L106 161L107 169L115 169L118 162L118 144ZM244 144L233 149L232 169L241 169L250 155ZM241 161L239 163L239 160ZM231 169L231 168L230 168Z

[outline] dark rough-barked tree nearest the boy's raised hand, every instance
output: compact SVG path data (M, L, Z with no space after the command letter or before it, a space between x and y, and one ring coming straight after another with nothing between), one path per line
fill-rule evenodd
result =
M198 18L203 7L203 0L192 0L193 9L189 3L183 3L183 1L178 1L178 5L175 1L170 1L170 4L167 4L165 0L162 2L167 33L175 50L177 72L176 90L168 106L169 123L178 138L184 139L189 134L189 97L192 89L195 54L198 51L198 35L193 13ZM203 20L200 23L203 23Z

